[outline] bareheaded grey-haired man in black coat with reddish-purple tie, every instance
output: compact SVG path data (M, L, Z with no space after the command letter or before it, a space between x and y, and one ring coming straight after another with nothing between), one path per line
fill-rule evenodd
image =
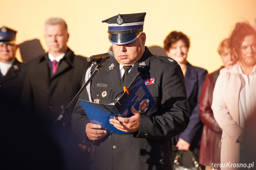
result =
M74 55L68 48L66 43L69 33L64 20L50 18L46 20L44 28L49 51L28 63L23 102L34 115L38 115L46 123L64 151L67 164L64 167L79 169L79 156L76 157L77 153L74 152L78 143L71 134L71 114L67 114L54 125L53 123L61 114L61 105L68 106L82 87L89 62L85 57ZM71 112L72 109L74 108L71 108Z

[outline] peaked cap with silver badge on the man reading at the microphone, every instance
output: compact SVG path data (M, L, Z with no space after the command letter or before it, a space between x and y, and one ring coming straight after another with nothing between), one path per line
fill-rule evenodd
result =
M136 40L143 31L146 12L118 14L102 22L108 23L109 41L122 45Z

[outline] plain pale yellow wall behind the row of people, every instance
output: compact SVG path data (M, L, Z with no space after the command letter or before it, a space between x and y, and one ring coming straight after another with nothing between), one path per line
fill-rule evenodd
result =
M39 39L44 50L44 21L61 17L68 24L68 46L82 56L109 51L107 24L117 14L147 12L144 32L146 46L163 47L173 30L190 37L188 61L214 71L222 65L217 46L227 38L236 22L256 17L255 0L0 0L0 27L17 30L17 44ZM17 51L17 58L21 60Z

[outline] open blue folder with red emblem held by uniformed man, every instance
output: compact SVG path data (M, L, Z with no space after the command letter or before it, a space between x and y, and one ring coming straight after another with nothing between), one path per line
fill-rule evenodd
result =
M147 114L147 112L154 105L155 101L139 74L136 75L127 90L129 95L125 91L114 105L93 103L80 99L79 102L91 123L101 125L107 130L107 133L128 134L128 132L123 132L116 129L112 124L109 123L109 119L113 118L113 116L133 116L130 109L131 106L134 106L134 108L141 114Z

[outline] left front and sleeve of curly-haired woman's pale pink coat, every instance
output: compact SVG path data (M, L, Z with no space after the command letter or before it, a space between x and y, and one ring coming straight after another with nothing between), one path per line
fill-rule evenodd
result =
M212 111L216 122L222 129L221 163L239 162L240 143L238 143L238 138L244 131L239 123L240 88L238 63L220 70L213 90Z

